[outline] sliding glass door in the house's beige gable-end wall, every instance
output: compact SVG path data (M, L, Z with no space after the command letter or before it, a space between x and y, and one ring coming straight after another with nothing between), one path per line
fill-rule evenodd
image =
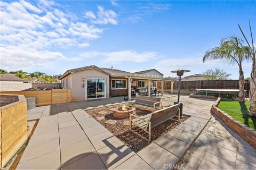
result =
M87 99L105 97L105 79L87 78Z

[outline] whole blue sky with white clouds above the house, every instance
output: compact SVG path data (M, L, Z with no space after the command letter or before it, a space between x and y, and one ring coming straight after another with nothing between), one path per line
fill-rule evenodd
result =
M256 40L256 1L0 1L0 68L63 74L88 65L129 72L157 69L201 74L219 67L238 79L238 66L202 62L207 49L237 35ZM255 41L254 40L254 41ZM252 62L244 61L244 77Z

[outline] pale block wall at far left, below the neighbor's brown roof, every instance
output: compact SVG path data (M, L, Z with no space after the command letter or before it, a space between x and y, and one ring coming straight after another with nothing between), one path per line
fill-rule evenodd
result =
M0 91L22 91L32 88L31 83L11 83L11 82L0 82Z

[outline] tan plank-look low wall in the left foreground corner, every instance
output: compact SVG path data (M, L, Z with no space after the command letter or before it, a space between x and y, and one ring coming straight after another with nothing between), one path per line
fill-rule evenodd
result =
M23 95L13 96L18 96L19 101L0 107L1 168L28 138L27 100Z

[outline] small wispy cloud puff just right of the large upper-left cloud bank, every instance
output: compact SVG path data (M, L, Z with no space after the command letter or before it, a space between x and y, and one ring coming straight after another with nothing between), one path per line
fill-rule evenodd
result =
M102 6L98 6L97 16L93 12L87 11L84 17L93 24L117 24L117 14L112 10L105 10Z

